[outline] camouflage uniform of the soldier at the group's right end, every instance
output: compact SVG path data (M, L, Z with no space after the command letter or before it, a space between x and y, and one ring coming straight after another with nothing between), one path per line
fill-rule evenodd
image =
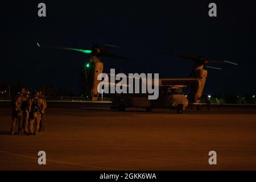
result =
M38 134L40 120L42 114L44 114L45 110L44 101L39 98L39 93L36 92L34 94L34 98L32 99L31 112L30 112L30 133ZM36 121L36 123L35 123ZM34 131L34 123L35 123L35 131Z

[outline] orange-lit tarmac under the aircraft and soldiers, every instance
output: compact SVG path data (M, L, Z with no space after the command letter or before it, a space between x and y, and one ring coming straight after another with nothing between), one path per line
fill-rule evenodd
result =
M46 131L10 135L11 109L0 107L0 170L255 170L256 107L187 110L109 104L49 104ZM38 152L46 152L46 165ZM209 151L217 152L210 165Z

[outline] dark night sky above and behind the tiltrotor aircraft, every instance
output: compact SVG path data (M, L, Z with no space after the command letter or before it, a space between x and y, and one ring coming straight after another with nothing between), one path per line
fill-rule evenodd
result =
M44 2L47 16L38 16ZM210 2L217 17L208 16ZM79 90L79 69L89 55L39 48L90 48L112 44L110 52L141 63L102 57L105 70L159 73L160 77L187 77L192 63L156 51L204 55L239 64L214 64L208 69L205 94L256 92L255 1L20 1L2 5L3 46L0 82L22 80L28 89L42 85Z

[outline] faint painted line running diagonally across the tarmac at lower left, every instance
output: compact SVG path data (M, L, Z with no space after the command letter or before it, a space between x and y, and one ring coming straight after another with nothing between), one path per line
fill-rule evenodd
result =
M13 152L7 152L7 151L3 151L0 150L0 152L5 153L5 154L9 154L9 155L14 155L14 156L19 156L22 158L27 158L27 159L35 159L38 160L38 158L34 158L31 156L27 156L27 155L20 155L20 154L15 154ZM69 162L62 162L59 160L51 160L51 159L47 159L47 162L52 162L52 163L59 163L59 164L68 164L68 165L72 165L72 166L81 166L81 167L93 167L93 168L99 168L99 169L108 169L108 170L123 170L123 169L116 169L116 168L109 168L109 167L99 167L99 166L90 166L90 165L84 165L84 164L76 164L76 163L69 163Z

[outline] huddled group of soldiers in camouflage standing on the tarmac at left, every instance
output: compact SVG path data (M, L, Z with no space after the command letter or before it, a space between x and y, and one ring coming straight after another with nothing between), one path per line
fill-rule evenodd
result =
M23 88L14 98L12 106L11 135L15 134L18 125L19 135L37 135L44 133L44 113L46 98L42 92L30 91Z

